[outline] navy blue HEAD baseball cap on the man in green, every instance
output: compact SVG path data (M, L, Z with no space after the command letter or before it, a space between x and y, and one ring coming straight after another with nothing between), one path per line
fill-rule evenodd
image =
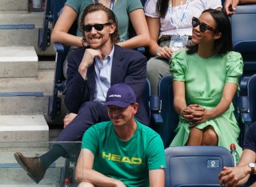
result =
M136 102L134 90L125 83L119 83L111 86L106 94L104 105L116 105L126 108L128 105Z

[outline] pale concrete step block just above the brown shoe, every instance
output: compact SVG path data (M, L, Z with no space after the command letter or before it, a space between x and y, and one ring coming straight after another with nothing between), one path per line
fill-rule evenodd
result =
M12 142L12 147L20 146L20 142L34 142L33 145L28 145L42 147L48 146L44 143L47 141L49 141L49 127L42 114L0 115L0 142ZM1 145L4 147L4 144Z

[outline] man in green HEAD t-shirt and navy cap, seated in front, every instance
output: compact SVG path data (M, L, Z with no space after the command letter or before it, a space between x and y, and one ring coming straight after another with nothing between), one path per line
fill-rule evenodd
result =
M83 135L75 172L78 186L163 187L162 139L134 119L134 91L125 83L111 86L105 105L111 121L92 125Z

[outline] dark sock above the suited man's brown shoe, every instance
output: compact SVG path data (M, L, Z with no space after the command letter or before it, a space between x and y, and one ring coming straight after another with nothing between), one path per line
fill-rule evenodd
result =
M56 161L59 157L66 155L65 149L60 145L54 145L47 153L41 155L40 161L43 169L48 169L50 165Z

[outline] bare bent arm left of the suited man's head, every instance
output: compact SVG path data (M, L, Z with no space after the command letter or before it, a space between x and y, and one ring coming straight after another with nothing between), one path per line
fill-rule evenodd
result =
M82 37L68 34L71 26L78 17L78 13L70 6L64 6L62 14L54 26L50 40L59 42L68 46L82 46Z

